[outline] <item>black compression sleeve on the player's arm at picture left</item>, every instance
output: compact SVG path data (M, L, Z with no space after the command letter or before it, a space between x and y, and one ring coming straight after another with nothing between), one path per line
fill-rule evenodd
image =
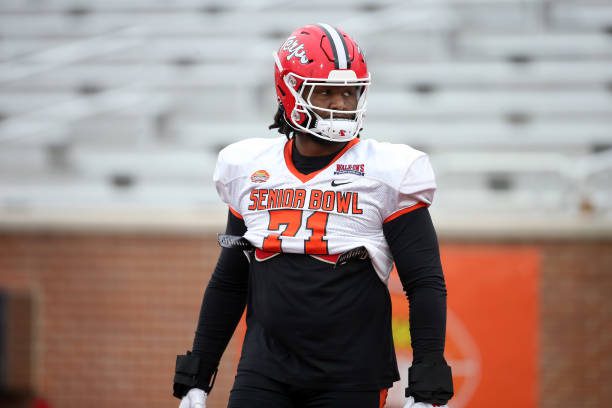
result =
M244 235L244 221L228 212L225 232ZM248 274L249 263L242 250L221 249L217 266L204 292L193 341L193 354L200 357L198 388L208 388L221 355L244 311Z

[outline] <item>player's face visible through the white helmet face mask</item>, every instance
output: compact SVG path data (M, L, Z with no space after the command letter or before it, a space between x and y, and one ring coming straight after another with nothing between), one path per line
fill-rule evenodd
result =
M312 89L308 87L305 91L305 96L310 98L310 103L314 106L340 111L357 109L359 95L358 88L355 86L313 85ZM318 109L314 109L314 111L324 119L329 119L331 116L328 111ZM346 115L335 114L334 118L353 119L354 116L352 113Z

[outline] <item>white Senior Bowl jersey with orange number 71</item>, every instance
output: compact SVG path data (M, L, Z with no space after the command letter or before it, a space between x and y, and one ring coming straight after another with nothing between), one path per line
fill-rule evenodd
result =
M293 143L253 138L219 153L215 185L244 220L244 237L268 253L321 260L364 246L386 284L393 257L383 223L431 204L429 158L406 145L353 139L325 168L304 175L291 161Z

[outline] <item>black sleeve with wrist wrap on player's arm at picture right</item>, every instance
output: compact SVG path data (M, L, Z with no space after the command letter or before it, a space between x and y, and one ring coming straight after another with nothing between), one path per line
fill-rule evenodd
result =
M411 376L411 394L416 401L444 404L453 395L444 360L446 284L429 211L406 213L385 223L383 232L410 302L411 373L422 374Z

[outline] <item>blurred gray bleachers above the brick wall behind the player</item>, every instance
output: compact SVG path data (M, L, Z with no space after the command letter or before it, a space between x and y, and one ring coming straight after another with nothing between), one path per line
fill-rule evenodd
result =
M427 151L433 210L612 218L612 0L0 2L0 219L221 209L216 153L267 130L271 52L345 28L363 137Z

